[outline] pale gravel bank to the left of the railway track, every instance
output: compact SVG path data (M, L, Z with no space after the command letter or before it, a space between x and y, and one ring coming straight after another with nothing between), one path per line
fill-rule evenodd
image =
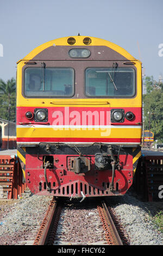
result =
M29 190L17 200L0 199L0 245L33 244L51 200Z

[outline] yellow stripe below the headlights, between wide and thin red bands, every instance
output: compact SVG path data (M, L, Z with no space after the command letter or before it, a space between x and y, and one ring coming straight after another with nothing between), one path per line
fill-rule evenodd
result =
M17 137L27 138L141 138L141 128L114 129L53 129L53 128L21 128L17 127Z

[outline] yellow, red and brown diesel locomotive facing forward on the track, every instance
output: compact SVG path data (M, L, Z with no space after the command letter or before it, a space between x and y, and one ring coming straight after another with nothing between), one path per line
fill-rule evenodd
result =
M92 36L67 36L17 62L17 155L38 195L123 195L141 155L141 62Z

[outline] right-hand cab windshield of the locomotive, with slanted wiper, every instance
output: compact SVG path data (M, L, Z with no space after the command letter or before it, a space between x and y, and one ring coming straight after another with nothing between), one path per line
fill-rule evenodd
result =
M135 71L132 68L88 68L85 70L85 94L97 97L135 95Z

